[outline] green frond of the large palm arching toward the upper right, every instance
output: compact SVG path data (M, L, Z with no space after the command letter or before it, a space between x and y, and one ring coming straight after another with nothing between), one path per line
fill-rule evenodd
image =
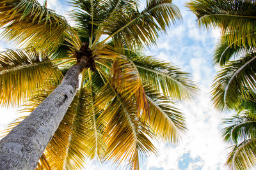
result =
M158 31L181 19L180 11L172 0L150 0L143 11L131 9L118 13L102 23L99 34L107 34L116 47L127 46L131 49L156 43Z

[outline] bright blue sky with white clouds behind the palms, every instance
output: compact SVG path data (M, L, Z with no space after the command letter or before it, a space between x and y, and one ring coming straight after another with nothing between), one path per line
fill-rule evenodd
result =
M44 0L40 0L44 2ZM212 54L220 33L218 30L206 31L196 24L196 17L184 7L185 0L173 0L183 17L183 22L173 25L157 40L157 46L145 50L147 55L172 62L191 73L200 88L199 95L193 102L180 103L179 108L186 117L188 132L179 145L156 143L157 155L143 157L140 169L146 170L200 170L227 169L228 146L221 139L221 119L228 113L219 113L212 107L211 84L218 67L212 64ZM64 15L69 20L67 7L63 0L48 0L48 8ZM72 23L72 22L71 22ZM0 50L13 48L0 39ZM0 130L17 117L15 111L0 108ZM19 116L19 115L18 115ZM96 160L88 161L86 170L116 169L111 164L99 164Z

